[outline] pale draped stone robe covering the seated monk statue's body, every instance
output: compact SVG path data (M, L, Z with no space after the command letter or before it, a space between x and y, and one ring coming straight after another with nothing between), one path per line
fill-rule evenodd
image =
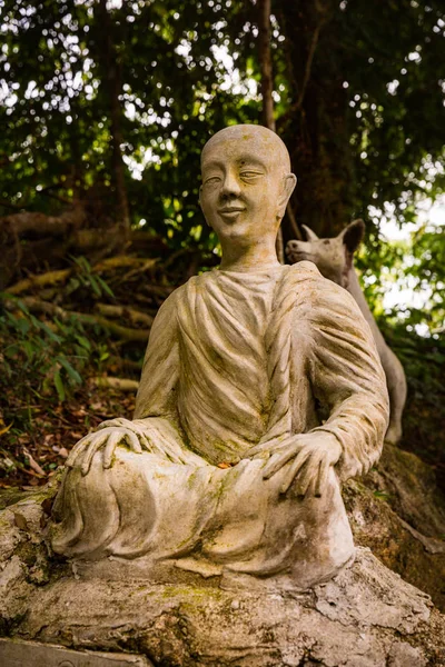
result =
M147 573L169 561L308 586L354 552L339 480L377 460L387 418L368 326L312 262L191 278L150 334L132 422L149 451L121 445L110 469L99 451L85 477L80 464L69 470L52 547L142 559ZM291 462L265 480L265 459L244 458L258 442L323 431L343 454L320 498L280 492Z

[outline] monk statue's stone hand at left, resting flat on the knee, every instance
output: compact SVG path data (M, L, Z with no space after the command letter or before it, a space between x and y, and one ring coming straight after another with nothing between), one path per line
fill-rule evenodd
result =
M81 457L80 469L82 475L87 475L91 467L92 457L101 447L105 447L103 468L110 468L113 462L116 447L122 441L126 441L130 450L136 454L141 454L142 449L150 450L150 444L146 436L140 438L129 428L107 426L88 434L79 440L70 452L66 465L72 468L78 458Z

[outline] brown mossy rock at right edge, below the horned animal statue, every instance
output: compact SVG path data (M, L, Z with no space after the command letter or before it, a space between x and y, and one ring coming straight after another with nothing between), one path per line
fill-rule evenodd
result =
M376 468L349 480L343 498L356 544L369 547L445 611L445 496L433 468L385 445Z

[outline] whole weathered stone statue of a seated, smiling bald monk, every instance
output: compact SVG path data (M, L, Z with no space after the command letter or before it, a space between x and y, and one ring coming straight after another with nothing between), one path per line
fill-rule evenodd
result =
M160 308L134 420L70 454L52 548L136 559L147 576L168 564L308 587L354 555L340 481L379 457L385 376L353 297L309 261L277 260L296 183L283 141L226 128L201 169L221 265Z

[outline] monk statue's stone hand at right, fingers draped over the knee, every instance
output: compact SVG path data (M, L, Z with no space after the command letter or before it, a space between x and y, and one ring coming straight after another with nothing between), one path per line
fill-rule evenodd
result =
M246 458L263 458L267 444L253 447ZM290 436L273 446L263 477L269 479L288 464L280 492L286 494L296 479L298 496L322 496L326 487L329 469L342 456L337 438L326 431L315 431Z

